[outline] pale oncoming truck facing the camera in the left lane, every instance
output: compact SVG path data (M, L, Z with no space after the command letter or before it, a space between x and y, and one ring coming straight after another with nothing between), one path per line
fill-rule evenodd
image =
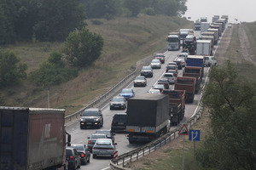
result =
M168 51L179 50L180 48L180 36L179 32L170 32L166 41L168 42Z

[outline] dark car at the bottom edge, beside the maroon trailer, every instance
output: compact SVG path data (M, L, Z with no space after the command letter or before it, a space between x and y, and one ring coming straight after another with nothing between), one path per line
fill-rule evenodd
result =
M81 167L81 158L75 148L66 147L66 160L68 169L75 170L77 167Z

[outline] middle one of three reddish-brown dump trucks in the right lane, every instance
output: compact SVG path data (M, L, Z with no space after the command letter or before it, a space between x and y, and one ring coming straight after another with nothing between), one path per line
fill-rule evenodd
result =
M193 103L195 97L195 77L177 77L174 90L185 90L185 103Z

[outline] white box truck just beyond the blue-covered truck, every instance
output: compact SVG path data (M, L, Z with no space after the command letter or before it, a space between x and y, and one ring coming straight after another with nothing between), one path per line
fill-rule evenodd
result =
M212 55L212 40L197 40L196 54L203 56Z

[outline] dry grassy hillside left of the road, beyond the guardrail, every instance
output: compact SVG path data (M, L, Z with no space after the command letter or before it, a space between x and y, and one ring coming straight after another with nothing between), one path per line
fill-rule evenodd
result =
M79 111L97 99L114 84L131 72L137 60L166 47L166 35L182 27L192 27L191 22L167 16L140 14L137 18L115 20L86 20L92 32L104 38L102 56L95 65L79 72L79 77L60 86L50 87L50 107L65 108L66 114ZM99 22L97 22L99 23ZM15 51L21 62L28 65L27 73L34 71L49 57L50 52L63 48L61 42L17 43L5 48ZM1 91L8 105L47 107L47 91L30 82Z

